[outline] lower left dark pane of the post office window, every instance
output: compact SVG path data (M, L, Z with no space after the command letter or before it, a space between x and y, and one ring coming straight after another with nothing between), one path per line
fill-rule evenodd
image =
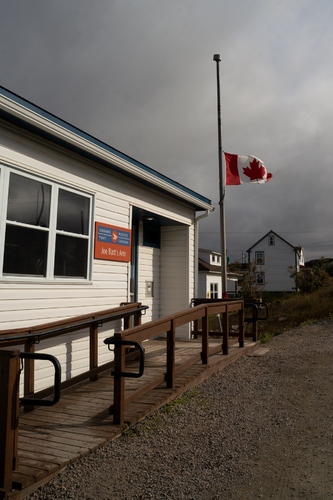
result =
M47 239L47 231L7 225L3 272L46 276Z

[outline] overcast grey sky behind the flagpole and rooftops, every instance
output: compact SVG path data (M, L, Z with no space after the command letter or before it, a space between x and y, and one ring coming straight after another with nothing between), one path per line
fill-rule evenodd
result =
M273 179L226 187L227 249L270 229L333 257L332 0L1 0L0 85L210 198L223 149Z

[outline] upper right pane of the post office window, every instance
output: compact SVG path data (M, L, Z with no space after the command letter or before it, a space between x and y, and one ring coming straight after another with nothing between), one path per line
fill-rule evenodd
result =
M59 189L57 229L88 235L90 199Z

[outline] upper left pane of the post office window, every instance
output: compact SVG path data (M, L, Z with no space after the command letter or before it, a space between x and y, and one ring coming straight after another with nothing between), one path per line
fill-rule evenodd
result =
M51 186L10 174L7 219L49 227Z

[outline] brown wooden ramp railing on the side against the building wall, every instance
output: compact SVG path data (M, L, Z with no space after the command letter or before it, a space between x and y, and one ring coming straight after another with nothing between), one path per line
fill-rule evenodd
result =
M28 329L12 329L0 331L0 499L6 498L12 488L12 473L18 469L18 416L19 416L19 379L20 351L15 346L24 345L24 352L33 353L35 343L51 337L62 338L68 333L89 327L89 359L90 369L76 377L62 382L61 389L66 389L83 380L96 380L98 374L113 366L113 361L98 366L98 329L112 321L123 319L124 328L141 324L141 312L147 309L141 303L122 304L119 307L86 314ZM7 349L3 349L7 348ZM24 396L28 398L46 398L53 388L34 392L34 360L26 359L24 366ZM32 410L33 406L25 406Z

